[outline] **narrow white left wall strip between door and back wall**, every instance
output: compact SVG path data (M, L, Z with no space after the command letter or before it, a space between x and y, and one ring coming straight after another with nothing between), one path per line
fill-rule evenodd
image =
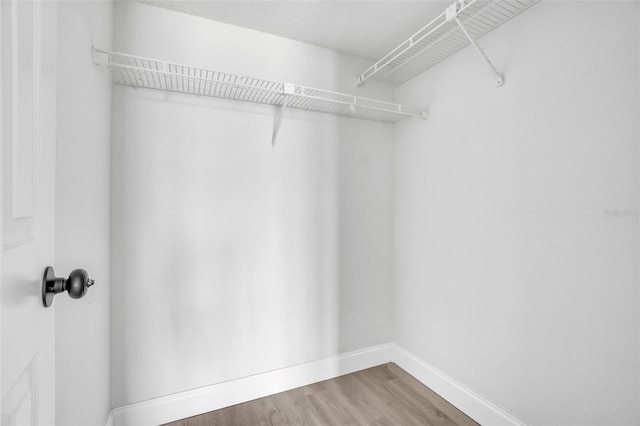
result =
M111 82L92 63L108 48L113 5L58 2L56 264L86 269L95 285L79 300L56 297L56 424L104 425L110 395L109 198Z

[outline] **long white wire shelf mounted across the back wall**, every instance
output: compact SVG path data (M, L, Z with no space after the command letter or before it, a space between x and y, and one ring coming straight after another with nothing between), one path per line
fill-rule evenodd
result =
M395 123L426 118L426 110L293 83L263 80L141 56L93 49L94 63L111 71L115 84L197 96L284 106Z

